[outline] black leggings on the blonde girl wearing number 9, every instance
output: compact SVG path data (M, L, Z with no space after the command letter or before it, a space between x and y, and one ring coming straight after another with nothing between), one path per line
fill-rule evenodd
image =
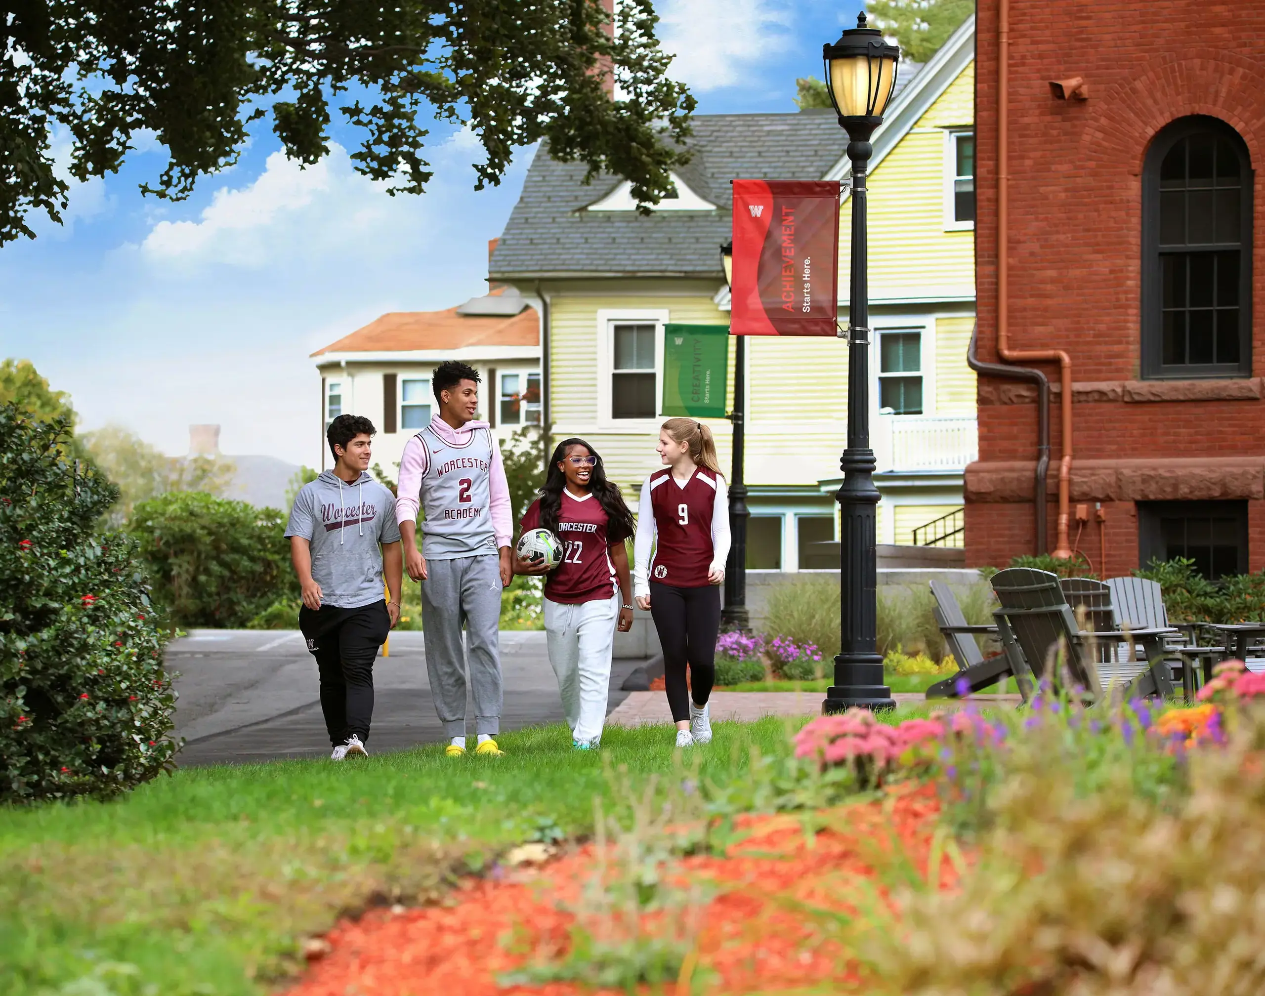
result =
M720 588L674 588L650 581L650 616L663 646L663 684L672 720L689 719L689 698L706 705L716 680L716 637L720 633ZM686 688L686 664L689 688Z

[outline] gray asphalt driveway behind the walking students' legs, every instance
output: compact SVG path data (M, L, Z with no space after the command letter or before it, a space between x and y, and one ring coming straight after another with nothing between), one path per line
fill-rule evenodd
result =
M316 665L297 631L195 629L167 648L178 672L176 733L186 738L178 763L271 761L329 753ZM611 667L610 708L629 693L620 685L640 660ZM501 633L505 708L501 729L560 723L558 681L543 632ZM391 635L391 656L373 667L372 751L438 743L443 729L426 679L420 632ZM659 693L663 696L663 693ZM473 705L469 717L474 715ZM473 718L469 733L474 733Z

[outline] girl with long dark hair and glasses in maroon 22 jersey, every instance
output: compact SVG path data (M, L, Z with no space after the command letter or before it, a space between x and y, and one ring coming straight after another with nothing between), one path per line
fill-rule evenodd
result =
M602 739L611 648L632 628L629 554L624 541L636 526L602 460L584 440L558 444L540 495L522 516L522 528L545 528L563 545L563 559L545 579L545 640L558 676L572 747L587 751ZM515 557L516 574L544 574Z

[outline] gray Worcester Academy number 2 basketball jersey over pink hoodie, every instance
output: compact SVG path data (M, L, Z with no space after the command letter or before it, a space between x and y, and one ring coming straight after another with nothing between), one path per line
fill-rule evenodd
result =
M492 432L476 428L464 444L454 445L426 426L417 434L423 446L421 555L428 560L454 560L496 552L492 531Z

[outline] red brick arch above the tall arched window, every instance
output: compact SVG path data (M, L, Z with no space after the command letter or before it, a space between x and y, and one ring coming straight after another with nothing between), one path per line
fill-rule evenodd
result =
M1252 168L1265 154L1265 67L1228 52L1161 57L1128 82L1090 99L1080 155L1141 176L1156 134L1179 118L1203 114L1233 128Z

